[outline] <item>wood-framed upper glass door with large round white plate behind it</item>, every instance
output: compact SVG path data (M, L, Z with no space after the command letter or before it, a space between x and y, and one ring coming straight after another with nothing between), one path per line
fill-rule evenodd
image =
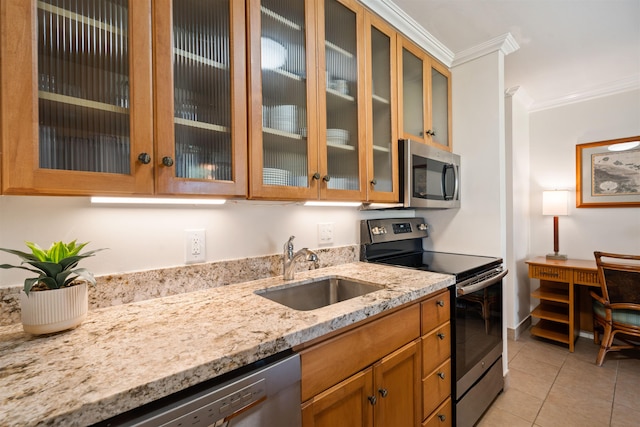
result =
M252 197L317 194L312 13L311 1L250 2Z

